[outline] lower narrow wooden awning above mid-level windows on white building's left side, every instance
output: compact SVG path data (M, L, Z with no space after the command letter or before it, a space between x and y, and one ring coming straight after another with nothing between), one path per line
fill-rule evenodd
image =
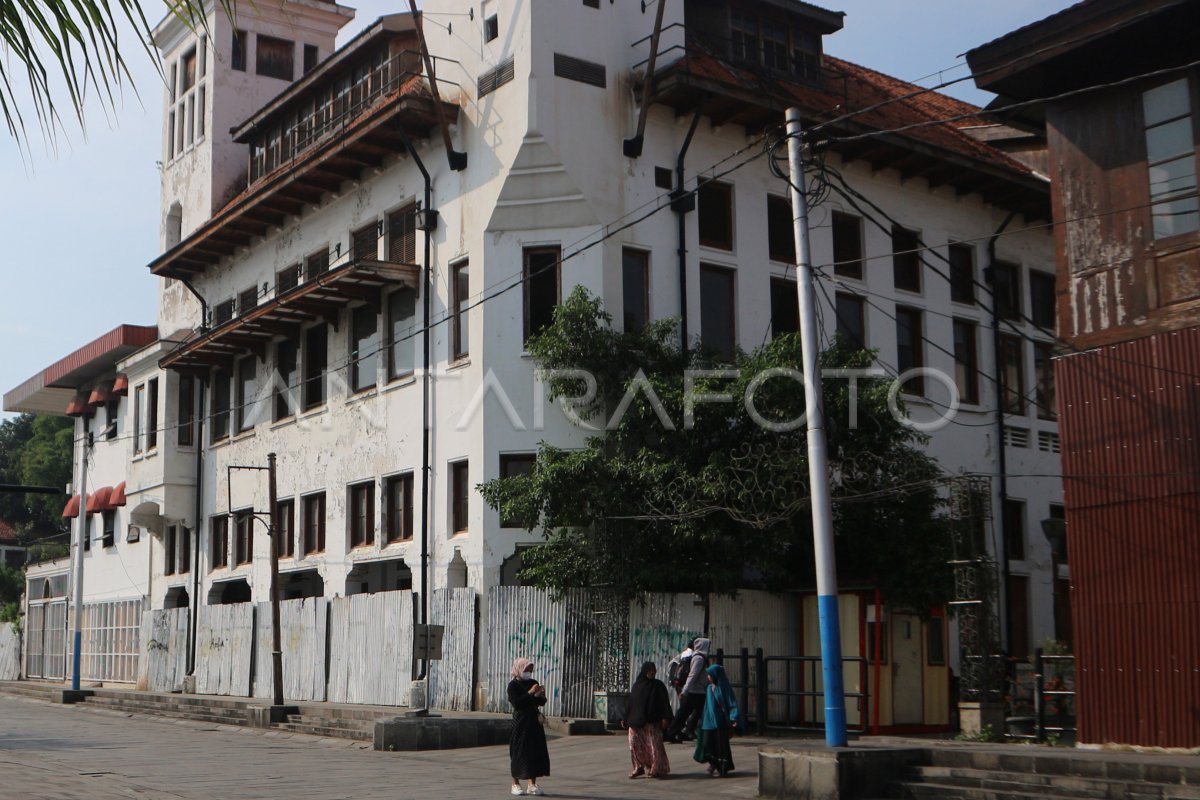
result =
M212 367L233 371L233 361L246 353L266 359L266 348L275 338L298 338L300 329L316 320L335 327L342 308L354 301L383 307L388 289L420 284L416 264L395 264L359 259L330 267L314 279L301 283L252 311L230 319L168 353L161 366L191 372Z

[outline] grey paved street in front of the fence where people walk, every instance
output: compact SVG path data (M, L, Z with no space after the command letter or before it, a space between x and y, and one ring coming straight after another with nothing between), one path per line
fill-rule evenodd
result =
M691 748L676 774L631 781L624 736L552 738L547 796L754 798L757 748L736 741L738 770L712 780ZM389 800L509 796L508 747L378 753L362 742L131 716L0 696L0 800Z

